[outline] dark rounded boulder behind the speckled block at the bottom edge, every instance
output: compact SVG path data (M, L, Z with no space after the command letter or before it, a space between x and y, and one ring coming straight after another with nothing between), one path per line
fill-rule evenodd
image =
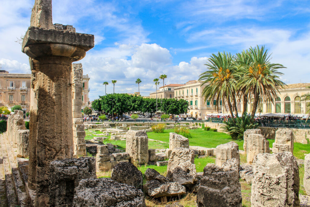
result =
M138 168L129 162L116 164L111 172L111 179L138 189L143 189L143 176Z

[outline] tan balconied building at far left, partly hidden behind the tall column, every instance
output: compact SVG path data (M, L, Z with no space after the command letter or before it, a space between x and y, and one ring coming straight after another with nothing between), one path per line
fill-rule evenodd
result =
M0 107L20 105L26 112L30 107L31 74L13 74L0 70ZM88 75L83 75L82 100L84 109L89 104Z

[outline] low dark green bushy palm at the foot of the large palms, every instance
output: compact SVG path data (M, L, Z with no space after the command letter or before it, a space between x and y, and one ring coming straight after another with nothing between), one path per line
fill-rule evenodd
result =
M229 119L224 122L225 132L232 137L232 139L243 139L243 134L247 129L256 129L259 127L259 123L255 122L250 115L247 115L246 112L242 114L242 117L237 117L235 121Z

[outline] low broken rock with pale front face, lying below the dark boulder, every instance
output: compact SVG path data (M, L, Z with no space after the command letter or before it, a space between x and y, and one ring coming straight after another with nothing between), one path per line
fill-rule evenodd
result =
M179 196L186 193L185 187L178 182L161 183L151 180L145 183L145 190L149 196L158 198L162 196Z

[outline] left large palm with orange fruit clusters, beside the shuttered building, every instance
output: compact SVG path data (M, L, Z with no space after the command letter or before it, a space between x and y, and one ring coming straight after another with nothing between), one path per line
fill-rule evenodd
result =
M227 100L228 108L232 119L234 115L232 113L231 100L236 99L236 70L233 65L233 57L230 53L218 53L212 54L209 58L209 62L205 64L208 70L199 76L199 80L203 80L203 84L208 84L203 90L202 95L205 97L205 101L216 100L215 108L219 108L219 101L225 103ZM234 101L235 102L235 101ZM238 114L236 113L236 116Z

